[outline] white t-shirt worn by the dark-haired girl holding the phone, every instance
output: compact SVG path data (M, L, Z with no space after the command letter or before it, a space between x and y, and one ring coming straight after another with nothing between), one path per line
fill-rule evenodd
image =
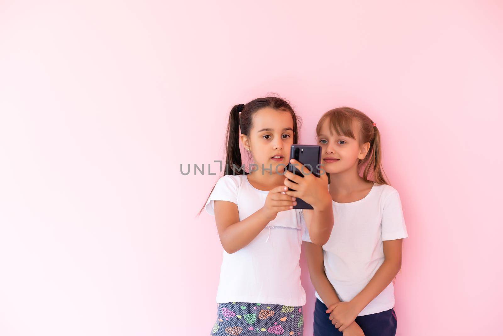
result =
M264 206L268 193L252 186L246 175L225 175L205 209L214 216L213 201L226 200L237 205L242 221ZM306 293L300 283L299 260L304 228L300 210L282 211L248 245L231 254L224 250L217 303L303 306Z

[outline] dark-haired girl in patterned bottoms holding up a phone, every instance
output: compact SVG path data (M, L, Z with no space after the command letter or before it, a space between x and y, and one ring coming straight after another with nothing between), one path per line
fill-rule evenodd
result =
M312 205L307 230L314 242L324 244L333 226L327 177L306 174L296 191L285 186L284 170L290 147L297 143L298 119L281 98L235 105L227 138L224 176L205 205L215 216L224 248L218 316L211 334L302 335L306 295L299 259L306 224L293 206L296 197ZM240 142L253 158L251 168L241 166Z

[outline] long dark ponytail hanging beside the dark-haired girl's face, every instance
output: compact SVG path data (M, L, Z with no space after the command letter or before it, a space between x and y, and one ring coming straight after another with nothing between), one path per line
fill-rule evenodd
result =
M243 108L244 104L238 104L234 105L230 110L226 132L224 175L246 174L243 167L241 167L241 151L239 150L239 112Z

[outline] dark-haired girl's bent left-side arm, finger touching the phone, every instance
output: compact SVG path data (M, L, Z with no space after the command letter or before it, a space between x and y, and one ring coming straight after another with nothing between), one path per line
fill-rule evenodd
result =
M242 221L239 221L239 211L235 203L226 200L213 201L218 236L227 253L237 252L248 245L276 218L278 212L292 209L295 198L281 193L285 189L288 188L279 186L269 191L264 207Z

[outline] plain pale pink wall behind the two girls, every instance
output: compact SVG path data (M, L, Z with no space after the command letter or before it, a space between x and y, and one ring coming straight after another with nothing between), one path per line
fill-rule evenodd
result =
M398 335L500 334L499 1L0 3L0 334L209 335L195 218L230 107L368 113L410 238ZM313 288L302 258L306 311ZM312 334L306 314L305 335Z

